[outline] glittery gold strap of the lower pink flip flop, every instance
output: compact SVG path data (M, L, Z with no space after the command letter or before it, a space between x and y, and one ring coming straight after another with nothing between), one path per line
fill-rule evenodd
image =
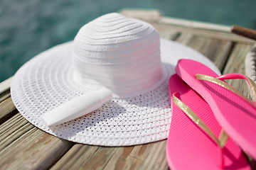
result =
M178 106L178 108L181 109L181 111L183 111L184 113L186 113L186 115L188 115L188 118L190 118L191 120L193 120L194 123L196 123L196 125L198 125L198 127L200 127L204 132L206 132L206 134L221 148L223 148L225 146L225 143L228 140L228 135L226 134L226 132L224 130L221 130L219 137L216 137L215 134L213 133L212 130L210 130L210 128L208 128L208 126L203 123L203 120L201 120L198 115L196 115L196 113L194 113L191 108L188 108L188 106L186 106L185 103L183 103L180 99L178 99L174 94L173 94L173 101L176 104L176 106ZM206 113L208 114L208 113Z

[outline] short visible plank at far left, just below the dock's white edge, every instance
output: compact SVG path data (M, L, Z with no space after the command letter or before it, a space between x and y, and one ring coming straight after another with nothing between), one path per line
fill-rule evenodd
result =
M6 120L18 113L16 107L14 106L11 97L6 98L6 100L0 103L0 124L4 123Z

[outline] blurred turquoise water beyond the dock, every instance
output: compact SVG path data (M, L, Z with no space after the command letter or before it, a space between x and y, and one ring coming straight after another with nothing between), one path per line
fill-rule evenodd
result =
M164 16L256 28L256 0L0 0L0 81L39 52L73 40L78 29L122 8L155 8Z

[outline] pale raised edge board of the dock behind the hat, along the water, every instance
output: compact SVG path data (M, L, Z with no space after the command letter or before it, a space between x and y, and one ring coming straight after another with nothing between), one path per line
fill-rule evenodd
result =
M193 35L200 35L206 38L217 38L220 40L228 40L235 42L247 42L250 45L255 41L249 38L244 38L239 35L230 33L230 26L223 26L213 23L204 23L199 21L189 21L181 18L171 18L161 16L159 11L155 10L132 10L124 9L120 11L124 16L131 18L138 18L151 23L156 30L163 32L163 30L174 30L180 33L191 33Z

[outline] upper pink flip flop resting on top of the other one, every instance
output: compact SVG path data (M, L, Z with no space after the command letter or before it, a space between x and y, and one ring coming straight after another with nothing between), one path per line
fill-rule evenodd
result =
M210 68L193 60L179 60L176 73L207 101L225 132L247 154L256 159L255 102L250 101L222 80L246 79L256 96L254 82L242 74L218 76Z

